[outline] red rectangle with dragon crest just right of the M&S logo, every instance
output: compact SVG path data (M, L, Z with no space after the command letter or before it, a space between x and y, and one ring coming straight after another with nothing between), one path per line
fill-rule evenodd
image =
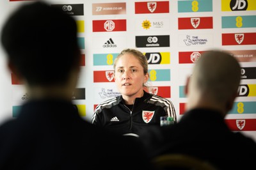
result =
M198 26L193 27L191 19L198 18ZM212 29L212 17L179 18L179 29Z

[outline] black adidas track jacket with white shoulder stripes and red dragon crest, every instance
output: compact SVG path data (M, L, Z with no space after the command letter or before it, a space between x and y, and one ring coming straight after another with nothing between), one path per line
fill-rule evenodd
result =
M135 99L132 110L124 104L122 95L100 103L95 108L92 124L117 134L140 136L141 130L160 126L161 116L172 116L177 121L172 102L144 91L143 97Z

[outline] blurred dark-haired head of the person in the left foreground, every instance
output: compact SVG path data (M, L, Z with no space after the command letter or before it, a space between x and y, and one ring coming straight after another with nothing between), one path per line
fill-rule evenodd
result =
M4 23L1 42L10 70L29 88L76 86L76 20L61 10L42 2L20 6Z

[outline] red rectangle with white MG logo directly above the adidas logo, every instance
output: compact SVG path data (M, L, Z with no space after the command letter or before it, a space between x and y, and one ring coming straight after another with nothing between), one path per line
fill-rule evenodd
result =
M126 31L126 20L125 19L119 19L119 20L93 20L93 32L106 32L107 29L111 29L109 24L110 22L113 22L115 26L113 26L113 30L111 31ZM106 23L106 24L105 24Z

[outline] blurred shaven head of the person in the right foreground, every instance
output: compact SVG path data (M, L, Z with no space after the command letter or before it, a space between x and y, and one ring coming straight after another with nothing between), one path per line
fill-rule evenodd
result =
M236 58L220 50L204 52L186 84L186 109L211 108L227 114L237 97L240 79Z

